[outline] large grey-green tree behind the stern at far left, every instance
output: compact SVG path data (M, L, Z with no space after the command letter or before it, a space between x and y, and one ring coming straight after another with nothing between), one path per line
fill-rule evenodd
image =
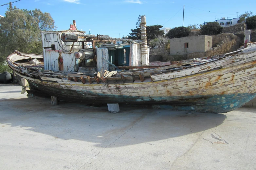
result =
M14 50L42 54L40 32L57 28L50 14L39 9L28 11L13 8L10 4L5 15L0 19L0 62L6 60Z

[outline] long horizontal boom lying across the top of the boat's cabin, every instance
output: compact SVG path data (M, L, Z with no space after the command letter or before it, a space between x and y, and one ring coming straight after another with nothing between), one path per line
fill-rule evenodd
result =
M112 38L106 36L96 36L96 35L86 35L86 34L67 34L62 33L61 40L63 42L75 42L78 38L99 38L99 40L119 40L119 41L126 41L126 42L137 42L142 43L140 40L133 40L133 39L124 39L124 38Z

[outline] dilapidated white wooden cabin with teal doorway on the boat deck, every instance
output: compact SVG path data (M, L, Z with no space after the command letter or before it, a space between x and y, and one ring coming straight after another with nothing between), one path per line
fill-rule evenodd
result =
M149 48L147 45L143 48L140 40L86 35L78 30L45 31L41 34L44 70L82 72L95 76L97 71L114 71L118 66L149 65ZM130 44L116 44L117 40ZM113 44L95 45L96 42L109 41Z

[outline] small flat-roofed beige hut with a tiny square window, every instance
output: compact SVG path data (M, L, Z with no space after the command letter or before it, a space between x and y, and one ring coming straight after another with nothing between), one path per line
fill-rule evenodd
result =
M199 35L170 39L170 55L205 52L212 48L212 36Z

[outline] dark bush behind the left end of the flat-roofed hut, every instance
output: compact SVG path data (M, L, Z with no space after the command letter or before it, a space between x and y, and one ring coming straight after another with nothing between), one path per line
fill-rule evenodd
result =
M191 30L188 27L174 27L166 34L169 38L181 38L189 36Z

